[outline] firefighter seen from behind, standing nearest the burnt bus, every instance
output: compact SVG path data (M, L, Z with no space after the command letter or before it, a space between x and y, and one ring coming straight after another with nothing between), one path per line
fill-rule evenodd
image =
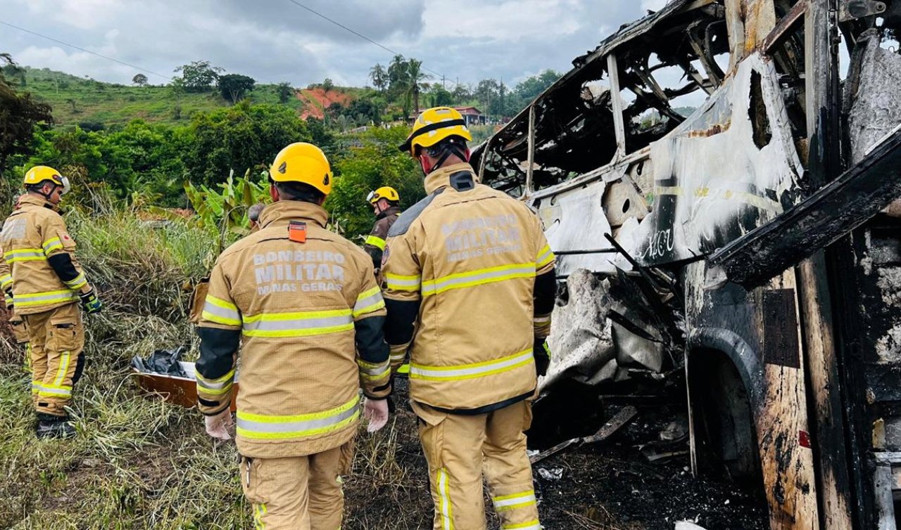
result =
M428 195L388 233L385 337L393 365L410 349L434 528L486 528L484 475L501 528L539 530L523 431L548 363L554 255L527 206L478 184L469 139L460 113L438 107L402 146Z

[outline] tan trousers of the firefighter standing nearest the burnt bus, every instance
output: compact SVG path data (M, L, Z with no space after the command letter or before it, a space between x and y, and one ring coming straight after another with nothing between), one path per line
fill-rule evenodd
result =
M532 424L531 402L477 416L416 402L413 409L429 463L435 530L485 530L483 473L502 529L541 530L523 432Z

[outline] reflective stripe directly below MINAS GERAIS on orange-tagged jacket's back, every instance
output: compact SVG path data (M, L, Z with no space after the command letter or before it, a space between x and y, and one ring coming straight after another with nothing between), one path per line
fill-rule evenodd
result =
M244 317L246 337L308 337L353 329L351 310L260 313Z

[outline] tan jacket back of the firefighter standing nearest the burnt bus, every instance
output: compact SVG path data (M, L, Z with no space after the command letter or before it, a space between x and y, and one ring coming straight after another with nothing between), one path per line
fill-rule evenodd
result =
M406 232L398 246L404 248L390 247L388 258L409 247L422 269L412 398L441 409L478 409L530 393L541 222L523 203L482 184L448 186L412 210L392 232ZM397 267L390 270L389 287L410 282Z

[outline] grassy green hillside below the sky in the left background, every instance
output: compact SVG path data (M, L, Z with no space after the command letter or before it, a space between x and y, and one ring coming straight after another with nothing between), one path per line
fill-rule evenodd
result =
M250 103L278 103L278 85L257 85L247 98ZM71 76L48 68L26 68L20 88L50 103L59 124L99 123L105 126L142 119L176 124L191 114L227 107L218 92L177 93L170 86L128 86ZM292 98L287 106L298 110L305 103Z

